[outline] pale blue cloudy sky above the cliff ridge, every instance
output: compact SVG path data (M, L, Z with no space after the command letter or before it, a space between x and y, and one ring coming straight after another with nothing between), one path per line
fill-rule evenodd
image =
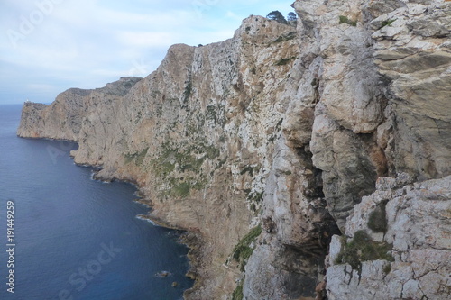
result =
M51 103L70 87L145 77L170 45L232 38L294 0L0 0L0 105Z

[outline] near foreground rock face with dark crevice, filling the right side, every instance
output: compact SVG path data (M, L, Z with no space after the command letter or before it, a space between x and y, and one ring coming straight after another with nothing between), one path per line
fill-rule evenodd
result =
M263 198L263 222L272 218L277 229L262 235L249 260L245 298L322 299L325 286L329 299L449 298L450 3L304 0L294 7L299 88ZM318 222L315 194L300 193L311 181L303 169L283 171L296 158L310 165L310 157L322 178L317 190L348 237L334 237L324 278L321 241L312 249L306 238ZM372 195L378 182L394 183ZM315 259L318 278L309 281Z

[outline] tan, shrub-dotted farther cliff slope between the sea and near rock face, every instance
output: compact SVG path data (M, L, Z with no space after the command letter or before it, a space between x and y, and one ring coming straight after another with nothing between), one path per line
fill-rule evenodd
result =
M153 220L198 232L188 296L225 298L240 272L226 261L259 223L298 54L295 27L251 16L231 40L172 46L142 80L25 105L18 134L78 141L75 161L101 166L98 178L136 182Z

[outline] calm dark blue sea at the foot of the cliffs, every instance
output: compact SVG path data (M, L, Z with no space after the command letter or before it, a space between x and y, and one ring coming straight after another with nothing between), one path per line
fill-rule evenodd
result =
M17 138L20 112L0 105L0 299L180 299L192 282L175 233L136 218L147 209L133 202L133 186L91 180L91 168L74 165L75 144ZM10 269L14 294L6 291ZM156 276L162 271L170 276Z

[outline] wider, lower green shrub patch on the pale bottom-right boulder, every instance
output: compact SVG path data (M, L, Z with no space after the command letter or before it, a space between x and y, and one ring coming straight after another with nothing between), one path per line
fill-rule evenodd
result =
M393 261L393 257L388 252L391 250L391 244L386 242L373 241L368 233L357 231L354 233L354 239L343 246L336 257L336 264L349 264L352 268L361 270L362 261L384 259Z

